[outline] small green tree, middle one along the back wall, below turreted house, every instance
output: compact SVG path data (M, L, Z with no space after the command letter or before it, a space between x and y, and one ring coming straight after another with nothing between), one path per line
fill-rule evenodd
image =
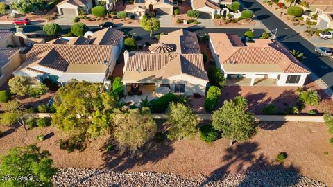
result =
M178 141L185 136L196 133L198 116L193 114L190 107L182 103L170 103L168 112L169 134L168 139Z

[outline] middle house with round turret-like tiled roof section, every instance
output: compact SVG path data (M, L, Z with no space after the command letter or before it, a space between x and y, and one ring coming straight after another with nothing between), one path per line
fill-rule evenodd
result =
M176 30L160 35L158 44L150 51L125 51L123 84L127 91L130 85L140 87L169 87L174 93L205 95L208 82L203 55L195 33Z

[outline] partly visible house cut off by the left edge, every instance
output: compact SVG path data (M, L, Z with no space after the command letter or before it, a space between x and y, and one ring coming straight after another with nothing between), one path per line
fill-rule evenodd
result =
M21 62L19 48L0 48L0 87L12 76L12 71L14 71Z

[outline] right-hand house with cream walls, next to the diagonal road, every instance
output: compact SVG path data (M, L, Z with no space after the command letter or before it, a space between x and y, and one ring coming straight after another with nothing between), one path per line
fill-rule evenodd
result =
M237 35L209 36L210 50L227 84L301 87L310 73L276 40L243 44Z

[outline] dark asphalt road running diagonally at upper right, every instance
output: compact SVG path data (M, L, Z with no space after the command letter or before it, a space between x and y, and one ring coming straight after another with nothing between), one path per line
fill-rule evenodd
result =
M269 29L278 28L277 38L289 49L296 49L305 53L304 64L311 69L327 86L333 89L333 60L329 57L320 57L314 53L314 45L308 42L299 33L296 33L287 24L264 8L260 3L253 0L239 0L249 10L252 10L257 19Z

